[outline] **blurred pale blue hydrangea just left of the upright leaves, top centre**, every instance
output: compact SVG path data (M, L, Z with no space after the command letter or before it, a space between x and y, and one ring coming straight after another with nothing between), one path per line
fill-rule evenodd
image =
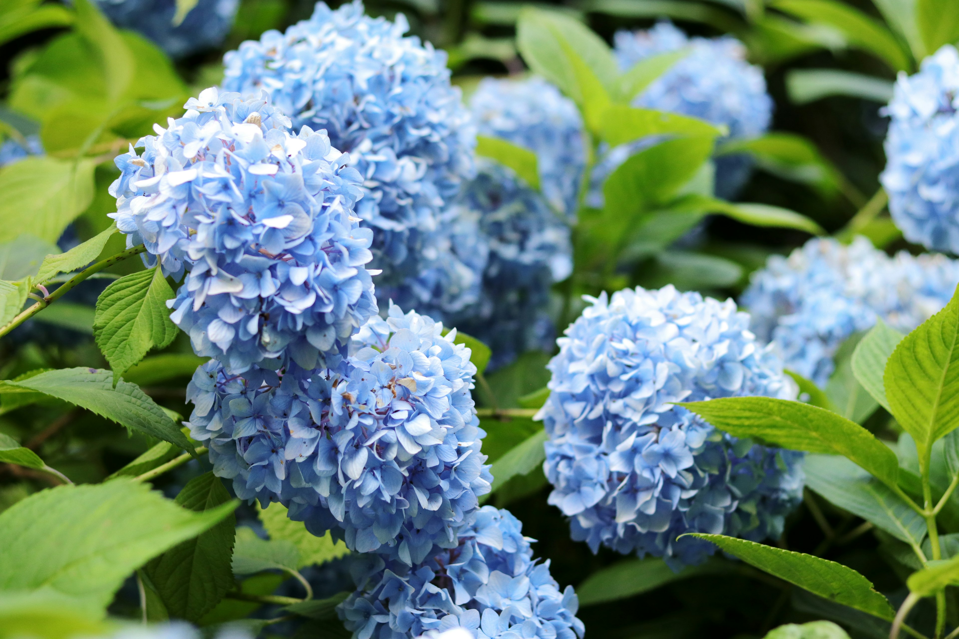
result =
M470 111L480 135L536 153L543 194L553 209L572 219L586 164L575 103L542 78L486 78L470 97Z

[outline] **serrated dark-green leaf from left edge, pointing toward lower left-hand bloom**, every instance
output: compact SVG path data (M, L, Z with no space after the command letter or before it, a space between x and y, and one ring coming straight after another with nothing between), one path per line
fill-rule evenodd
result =
M43 393L77 404L130 430L193 450L186 436L139 386L121 380L114 388L111 377L109 371L92 368L58 369L22 381L0 382L0 393Z

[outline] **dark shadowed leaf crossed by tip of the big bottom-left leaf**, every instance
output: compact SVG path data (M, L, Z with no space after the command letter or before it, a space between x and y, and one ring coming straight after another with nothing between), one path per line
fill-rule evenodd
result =
M204 472L176 495L185 509L204 513L230 502L220 477ZM213 528L174 546L144 566L156 593L171 616L198 622L233 587L230 559L236 517L229 513Z

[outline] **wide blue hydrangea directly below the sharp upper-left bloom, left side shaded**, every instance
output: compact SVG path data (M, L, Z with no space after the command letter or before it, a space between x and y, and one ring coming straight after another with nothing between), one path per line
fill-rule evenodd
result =
M492 482L476 367L442 328L391 306L327 368L277 360L240 377L213 360L187 387L191 433L241 499L279 501L317 536L332 529L351 550L418 563L434 543L456 545L454 527Z

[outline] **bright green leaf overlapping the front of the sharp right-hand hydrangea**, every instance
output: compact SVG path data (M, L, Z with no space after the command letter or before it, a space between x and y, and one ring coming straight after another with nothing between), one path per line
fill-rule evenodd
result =
M890 487L897 485L896 453L855 422L799 401L773 398L721 398L678 403L735 437L771 445L838 454Z

